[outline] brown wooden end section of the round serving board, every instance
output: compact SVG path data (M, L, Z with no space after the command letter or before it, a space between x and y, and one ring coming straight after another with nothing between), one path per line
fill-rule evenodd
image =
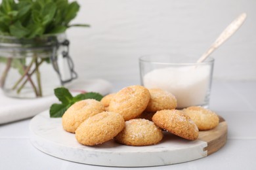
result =
M200 131L198 139L200 141L207 142L207 146L204 148L207 151L207 156L217 152L220 148L226 144L228 136L228 125L224 118L219 116L219 125L214 129L208 131Z

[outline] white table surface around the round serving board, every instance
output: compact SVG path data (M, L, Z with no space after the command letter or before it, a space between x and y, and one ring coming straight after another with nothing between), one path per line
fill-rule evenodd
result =
M119 90L128 85L131 83L115 83L114 87ZM228 123L226 145L200 160L144 169L256 169L255 98L256 81L213 81L210 109ZM74 163L44 154L30 143L29 124L30 119L0 126L0 169L120 169Z

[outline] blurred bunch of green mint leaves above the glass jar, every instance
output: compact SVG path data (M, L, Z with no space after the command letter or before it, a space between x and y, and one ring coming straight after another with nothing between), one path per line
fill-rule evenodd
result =
M0 3L0 35L18 39L64 33L69 27L89 27L70 24L77 16L79 4L68 0L3 0Z

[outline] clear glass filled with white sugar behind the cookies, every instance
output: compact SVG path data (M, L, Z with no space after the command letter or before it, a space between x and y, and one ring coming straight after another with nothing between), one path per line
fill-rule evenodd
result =
M146 88L173 93L178 109L209 107L213 58L196 63L197 58L176 55L148 55L139 58L140 81Z

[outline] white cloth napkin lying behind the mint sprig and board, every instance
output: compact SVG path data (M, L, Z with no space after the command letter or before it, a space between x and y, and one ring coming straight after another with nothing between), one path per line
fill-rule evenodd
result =
M74 95L81 90L106 95L112 90L112 85L102 79L74 80L66 88L73 91ZM0 89L0 124L31 118L43 110L49 109L53 103L59 103L54 95L36 99L18 99L5 96Z

